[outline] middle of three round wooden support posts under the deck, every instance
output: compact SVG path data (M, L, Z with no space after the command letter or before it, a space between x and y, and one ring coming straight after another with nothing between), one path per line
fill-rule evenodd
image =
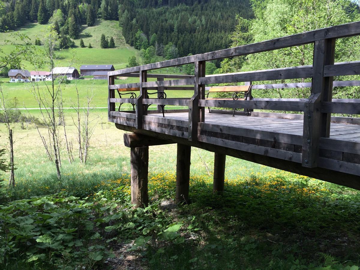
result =
M188 203L191 146L177 144L175 203Z

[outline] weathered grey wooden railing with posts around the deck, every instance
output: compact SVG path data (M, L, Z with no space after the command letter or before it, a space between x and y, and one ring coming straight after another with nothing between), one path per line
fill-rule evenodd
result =
M147 64L138 67L125 68L108 73L109 77L109 119L112 115L135 119L134 127L143 128L144 117L147 116L147 104L187 106L189 112L188 139L198 138L198 124L204 122L205 107L248 108L278 111L303 112L302 165L304 167L318 166L320 138L328 138L330 132L331 113L360 114L360 99L332 99L333 86L359 85L359 81L344 81L333 83L334 76L359 75L360 61L334 63L336 39L360 35L360 22L342 24L339 26L300 33L278 39L243 45L235 48L213 51L210 53L192 55L171 59L163 62ZM264 51L288 48L304 44L314 44L313 64L309 66L285 67L260 71L237 72L219 75L205 75L206 61L237 57L241 55L260 53ZM194 76L150 74L148 71L194 64ZM117 76L139 77L134 84L115 85ZM157 78L148 81L147 78ZM170 80L164 80L164 79ZM312 82L287 84L288 87L311 87L308 99L254 99L254 100L222 100L205 99L207 84L254 82L285 79L311 78ZM187 85L194 85L189 87ZM253 86L253 89L276 88L286 84ZM115 89L139 88L140 95L136 99L115 98ZM193 90L193 96L188 99L153 99L147 98L147 91L157 89ZM115 103L136 103L135 114L115 112ZM145 117L146 118L146 117ZM130 125L130 122L128 122ZM184 123L182 123L184 124Z

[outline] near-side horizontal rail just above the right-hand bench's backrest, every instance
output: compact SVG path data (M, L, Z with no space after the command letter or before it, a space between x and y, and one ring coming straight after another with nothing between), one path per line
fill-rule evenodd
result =
M312 66L275 68L260 71L246 71L199 78L199 84L221 84L224 82L269 81L312 77Z

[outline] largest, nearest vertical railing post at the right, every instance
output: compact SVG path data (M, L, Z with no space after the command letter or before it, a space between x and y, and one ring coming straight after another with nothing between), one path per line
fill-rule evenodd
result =
M334 64L335 39L314 42L311 95L304 108L302 166L318 166L319 138L330 135L330 113L320 113L321 102L332 100L333 77L324 77L324 66Z

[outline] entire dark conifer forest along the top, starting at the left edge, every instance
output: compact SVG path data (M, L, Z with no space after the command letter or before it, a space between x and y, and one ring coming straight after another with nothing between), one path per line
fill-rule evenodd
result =
M139 50L153 46L168 59L228 48L235 14L253 17L248 0L6 0L1 12L2 32L27 22L53 23L62 48L78 38L82 25L119 20L127 43Z

